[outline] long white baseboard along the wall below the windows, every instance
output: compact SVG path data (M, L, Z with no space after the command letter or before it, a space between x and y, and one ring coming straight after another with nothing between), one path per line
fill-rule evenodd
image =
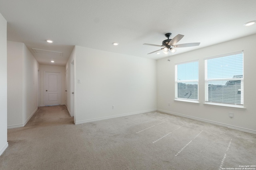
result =
M172 114L172 115L186 117L186 118L189 118L189 119L194 119L194 120L203 121L203 122L206 122L206 123L212 123L212 124L215 124L215 125L220 125L220 126L228 127L230 129L236 129L236 130L239 130L239 131L244 131L244 132L256 134L256 131L251 130L251 129L246 129L246 128L242 128L242 127L237 127L237 126L233 126L233 125L219 123L219 122L216 122L216 121L210 121L210 120L206 120L206 119L201 119L201 118L197 118L197 117L193 117L193 116L187 116L187 115L183 115L183 114L180 114L180 113L174 113L174 112L171 112L171 111L166 111L166 110L161 110L161 109L157 109L157 110L158 111L162 111L164 113L169 113L169 114Z

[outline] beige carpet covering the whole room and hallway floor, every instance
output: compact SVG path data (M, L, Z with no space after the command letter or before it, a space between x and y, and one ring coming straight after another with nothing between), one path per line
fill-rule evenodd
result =
M1 170L218 170L256 165L255 134L161 112L74 125L65 106L38 107L25 127L8 129L8 142L0 156Z

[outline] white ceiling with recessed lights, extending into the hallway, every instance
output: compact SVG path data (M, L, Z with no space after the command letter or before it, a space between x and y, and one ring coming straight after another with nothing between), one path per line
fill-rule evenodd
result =
M64 66L74 45L149 59L166 57L152 51L165 33L185 35L175 54L256 33L256 0L0 0L7 20L7 39L25 43L40 64ZM52 39L54 43L46 43ZM118 46L112 45L118 42ZM62 56L36 54L43 49Z

